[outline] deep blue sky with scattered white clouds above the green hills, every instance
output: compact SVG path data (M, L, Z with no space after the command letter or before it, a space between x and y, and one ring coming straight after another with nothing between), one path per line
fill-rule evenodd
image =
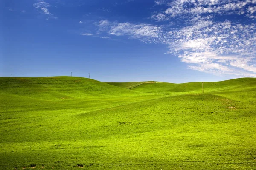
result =
M256 0L3 0L0 77L256 77Z

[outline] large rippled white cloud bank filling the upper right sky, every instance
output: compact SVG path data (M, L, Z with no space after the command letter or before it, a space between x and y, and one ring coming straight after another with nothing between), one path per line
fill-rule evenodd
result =
M149 18L168 21L166 25L102 20L95 24L99 34L104 31L146 43L166 44L169 46L166 54L179 57L193 70L256 77L256 0L175 0L171 3L155 0L155 3L169 7ZM227 17L230 20L216 20L216 16L230 14L242 15L250 22L234 21L230 17ZM175 24L173 21L177 25L170 27Z

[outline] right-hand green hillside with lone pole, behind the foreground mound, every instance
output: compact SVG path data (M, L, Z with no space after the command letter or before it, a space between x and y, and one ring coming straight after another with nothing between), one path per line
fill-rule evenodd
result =
M131 90L147 93L195 94L202 93L202 82L182 84L149 83ZM204 93L215 94L237 101L254 101L256 99L256 78L230 79L220 82L204 82Z

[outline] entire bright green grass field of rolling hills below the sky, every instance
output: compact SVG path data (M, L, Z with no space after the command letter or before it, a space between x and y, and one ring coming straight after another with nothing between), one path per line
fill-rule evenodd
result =
M0 169L256 169L256 78L0 78Z

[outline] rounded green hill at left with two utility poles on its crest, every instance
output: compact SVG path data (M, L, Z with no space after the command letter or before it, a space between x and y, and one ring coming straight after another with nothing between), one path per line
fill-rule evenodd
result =
M83 77L0 77L0 93L36 99L136 96L131 91Z

